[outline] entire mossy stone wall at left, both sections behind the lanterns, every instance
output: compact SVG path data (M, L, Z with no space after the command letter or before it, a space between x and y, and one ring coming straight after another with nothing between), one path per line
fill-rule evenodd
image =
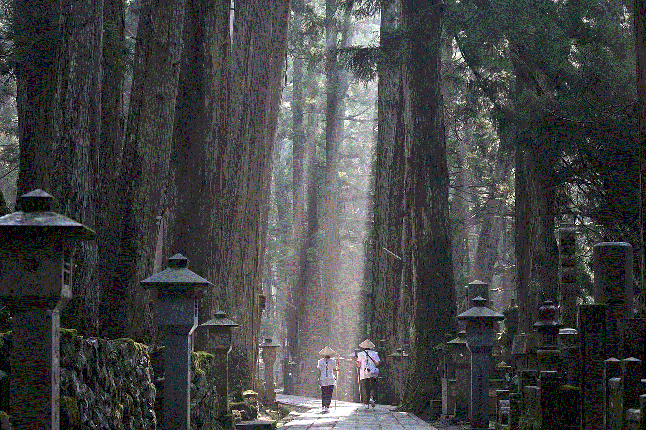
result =
M11 332L0 334L0 430L10 429ZM163 347L61 329L60 429L155 430L163 416ZM213 355L192 353L191 427L219 430ZM163 415L163 414L161 414Z

